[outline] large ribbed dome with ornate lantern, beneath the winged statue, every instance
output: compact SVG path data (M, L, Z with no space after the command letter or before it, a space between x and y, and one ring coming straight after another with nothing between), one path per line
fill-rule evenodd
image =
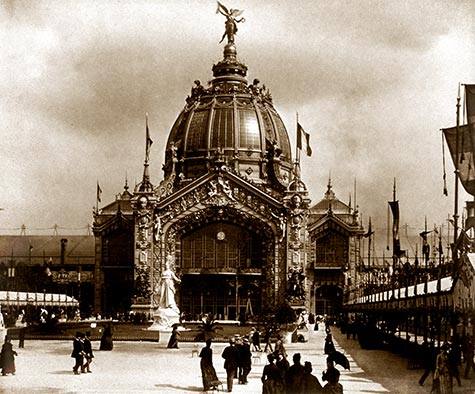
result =
M195 81L168 137L165 177L176 171L191 181L217 163L256 183L288 185L292 156L284 123L266 87L248 84L236 55L228 43L209 86Z

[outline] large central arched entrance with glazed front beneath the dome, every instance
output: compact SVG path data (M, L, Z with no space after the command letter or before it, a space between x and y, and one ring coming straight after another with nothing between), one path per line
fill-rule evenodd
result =
M180 310L186 319L209 313L217 319L247 320L262 304L262 237L220 221L181 237Z

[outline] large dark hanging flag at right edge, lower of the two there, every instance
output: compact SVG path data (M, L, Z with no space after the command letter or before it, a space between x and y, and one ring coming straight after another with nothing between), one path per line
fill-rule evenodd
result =
M473 130L473 129L472 129ZM457 150L457 128L450 127L442 129L445 140L449 147L450 155L454 166L458 169L458 176L462 186L467 193L475 195L475 166L474 166L474 148L471 142L469 125L459 127L458 150ZM458 151L458 157L457 157Z

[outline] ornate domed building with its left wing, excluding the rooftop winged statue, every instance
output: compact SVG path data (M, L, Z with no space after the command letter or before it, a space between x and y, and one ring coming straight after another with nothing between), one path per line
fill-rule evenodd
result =
M234 320L308 303L310 200L284 123L269 90L248 82L229 36L212 71L171 128L160 184L150 182L147 153L134 192L126 184L95 212L96 311L156 309L167 261L187 317Z

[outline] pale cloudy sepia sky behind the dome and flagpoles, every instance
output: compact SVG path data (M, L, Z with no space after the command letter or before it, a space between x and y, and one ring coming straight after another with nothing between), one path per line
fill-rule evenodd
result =
M459 83L475 83L475 2L222 3L244 10L238 57L272 93L294 155L297 113L311 135L312 203L331 177L385 244L396 179L401 224L418 233L427 217L445 233L455 182L445 147L444 196L440 129L455 125ZM223 32L216 1L0 2L0 233L85 234L97 182L101 206L141 180L145 113L158 184L169 131L193 81L212 78ZM460 194L461 213L472 197Z

